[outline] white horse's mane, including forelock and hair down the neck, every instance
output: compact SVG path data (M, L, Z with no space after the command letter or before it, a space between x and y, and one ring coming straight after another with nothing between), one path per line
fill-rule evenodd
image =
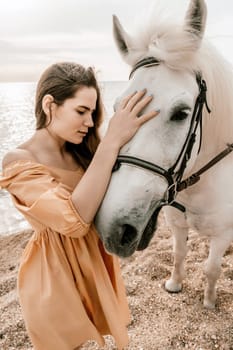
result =
M188 24L174 22L163 11L155 11L132 40L128 63L133 65L142 57L154 56L175 70L200 71L207 83L211 114L204 112L203 147L219 150L233 142L233 69L218 50L202 39L196 48L193 29ZM211 139L211 140L210 140Z

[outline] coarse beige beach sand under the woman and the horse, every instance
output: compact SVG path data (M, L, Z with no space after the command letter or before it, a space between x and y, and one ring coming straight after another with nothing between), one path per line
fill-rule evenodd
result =
M1 350L32 349L16 293L18 262L31 233L0 238ZM177 294L164 289L172 268L172 237L163 217L149 247L121 260L132 313L126 350L233 350L233 245L223 257L214 311L203 307L208 242L191 231L188 245L187 276ZM82 346L82 350L97 349L91 341ZM106 337L102 350L114 349L114 341Z

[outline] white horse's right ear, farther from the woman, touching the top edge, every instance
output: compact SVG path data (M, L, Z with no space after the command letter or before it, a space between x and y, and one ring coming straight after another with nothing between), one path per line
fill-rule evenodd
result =
M196 37L197 46L199 46L205 31L206 15L207 8L204 0L190 1L185 17L185 30Z

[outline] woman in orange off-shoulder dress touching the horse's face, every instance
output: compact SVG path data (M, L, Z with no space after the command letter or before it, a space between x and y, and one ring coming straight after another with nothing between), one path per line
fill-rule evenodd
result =
M36 93L34 135L3 159L0 186L34 229L18 291L35 350L74 350L89 339L128 343L129 311L116 257L92 224L120 148L158 114L137 117L145 91L122 101L100 141L100 90L92 68L58 63Z

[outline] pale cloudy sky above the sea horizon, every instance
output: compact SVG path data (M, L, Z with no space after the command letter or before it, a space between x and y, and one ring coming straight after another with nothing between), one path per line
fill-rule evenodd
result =
M166 0L163 0L166 1ZM36 81L58 61L94 66L100 80L127 80L112 36L112 15L124 28L155 0L0 0L0 82ZM167 0L167 6L189 0ZM233 63L233 1L206 0L206 36Z

